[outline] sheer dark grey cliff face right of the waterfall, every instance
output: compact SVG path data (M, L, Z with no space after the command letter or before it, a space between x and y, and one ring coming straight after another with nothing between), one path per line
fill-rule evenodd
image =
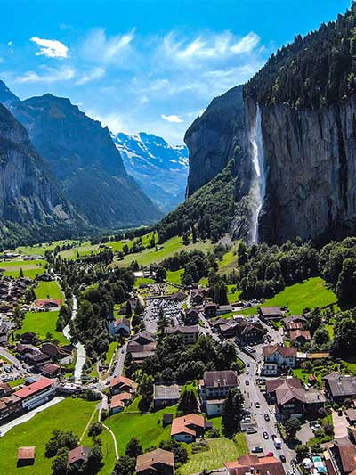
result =
M262 241L356 232L356 96L312 111L262 108Z

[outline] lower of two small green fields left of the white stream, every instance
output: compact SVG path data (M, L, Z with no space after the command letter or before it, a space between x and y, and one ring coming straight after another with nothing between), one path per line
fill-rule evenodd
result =
M58 311L54 312L27 312L22 323L21 329L16 332L20 335L25 332L35 332L41 339L45 339L48 332L52 333L53 338L66 345L69 341L63 336L62 332L56 331Z

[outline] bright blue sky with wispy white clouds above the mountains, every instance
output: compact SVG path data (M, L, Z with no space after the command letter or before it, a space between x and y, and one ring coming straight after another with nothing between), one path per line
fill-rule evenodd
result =
M114 132L182 143L214 96L347 0L1 0L0 78L69 97Z

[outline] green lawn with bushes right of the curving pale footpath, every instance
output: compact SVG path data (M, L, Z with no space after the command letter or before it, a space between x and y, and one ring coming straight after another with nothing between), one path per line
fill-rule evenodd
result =
M175 413L175 406L166 407L157 413L140 414L137 404L138 399L123 413L112 415L105 422L117 438L119 455L125 455L127 442L133 437L140 440L143 450L150 446L158 446L161 440L170 438L171 427L163 429L162 418L163 414Z

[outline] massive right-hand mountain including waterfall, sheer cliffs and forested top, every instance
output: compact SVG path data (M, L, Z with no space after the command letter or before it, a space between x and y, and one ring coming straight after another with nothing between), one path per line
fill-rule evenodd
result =
M195 223L204 215L214 236L228 231L247 242L356 233L355 31L352 4L335 22L295 37L247 85L214 99L195 120L185 136ZM202 209L198 191L229 160L235 207L226 210L227 222Z

